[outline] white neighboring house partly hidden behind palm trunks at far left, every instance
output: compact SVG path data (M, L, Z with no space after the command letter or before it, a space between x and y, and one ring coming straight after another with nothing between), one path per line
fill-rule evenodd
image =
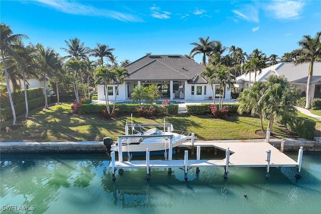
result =
M27 89L29 88L43 88L44 87L44 75L40 76L40 79L36 78L36 77L28 77L27 79ZM49 94L49 87L48 87L48 77L46 77L46 91L47 94ZM16 80L17 85L19 86L19 89L25 89L24 86L24 81L22 79L18 79ZM13 84L11 82L11 80L9 80L9 84L10 84L10 89L13 91ZM6 82L1 83L1 85L3 85L5 88L7 88L7 84ZM5 90L7 91L7 89Z

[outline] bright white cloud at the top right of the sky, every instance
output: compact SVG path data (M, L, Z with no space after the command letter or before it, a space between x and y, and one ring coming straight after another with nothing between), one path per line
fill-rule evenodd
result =
M279 20L295 20L300 18L304 3L302 1L275 1L266 7Z

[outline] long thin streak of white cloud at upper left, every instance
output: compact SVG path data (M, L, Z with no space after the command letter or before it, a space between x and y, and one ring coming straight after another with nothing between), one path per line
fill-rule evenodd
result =
M143 22L142 19L131 14L121 13L117 11L98 9L91 5L82 5L78 2L69 2L66 0L34 0L34 2L40 3L51 8L56 9L65 14L73 14L80 16L92 16L92 17L106 17L123 22Z

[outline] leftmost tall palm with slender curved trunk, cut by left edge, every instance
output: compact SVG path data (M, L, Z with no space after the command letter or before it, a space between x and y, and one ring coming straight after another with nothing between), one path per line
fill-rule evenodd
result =
M16 110L14 106L14 101L12 99L11 89L10 89L10 83L9 83L9 75L7 71L7 65L6 65L6 57L5 54L17 56L15 49L19 49L20 47L16 44L19 44L19 41L22 39L28 39L26 35L23 34L13 34L12 30L10 29L10 26L6 25L5 23L1 23L0 27L0 49L1 49L1 56L2 56L2 62L4 65L5 70L5 76L6 76L6 83L7 83L7 90L11 105L11 110L13 114L13 126L16 125Z

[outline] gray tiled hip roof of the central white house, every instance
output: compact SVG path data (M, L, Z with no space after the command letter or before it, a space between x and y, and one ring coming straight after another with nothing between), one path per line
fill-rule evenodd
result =
M188 80L206 83L198 75L204 66L182 55L148 55L125 66L129 76L126 80Z

